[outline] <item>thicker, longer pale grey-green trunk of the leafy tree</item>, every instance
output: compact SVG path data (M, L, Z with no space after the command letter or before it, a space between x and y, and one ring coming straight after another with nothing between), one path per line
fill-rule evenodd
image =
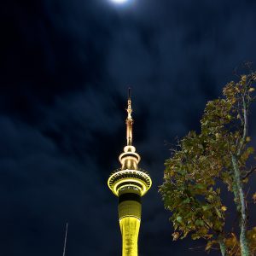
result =
M246 211L246 201L241 183L241 173L237 164L235 155L232 155L232 164L234 168L234 176L236 186L234 187L234 194L237 196L238 201L236 202L237 210L240 213L240 247L241 256L250 256L250 250L247 241L247 211Z

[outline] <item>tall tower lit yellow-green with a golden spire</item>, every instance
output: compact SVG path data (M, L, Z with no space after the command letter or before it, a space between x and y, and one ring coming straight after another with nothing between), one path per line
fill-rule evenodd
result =
M148 173L138 168L141 160L132 146L131 96L129 89L126 119L127 145L119 155L121 168L108 178L108 187L119 197L119 225L122 234L122 255L137 256L137 240L141 224L141 197L150 189L152 181Z

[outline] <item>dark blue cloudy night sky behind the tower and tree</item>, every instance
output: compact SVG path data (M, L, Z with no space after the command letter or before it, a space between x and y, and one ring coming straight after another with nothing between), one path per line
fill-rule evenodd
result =
M255 14L249 0L3 1L0 254L61 255L68 222L67 256L120 255L107 180L131 86L134 144L153 179L139 254L204 255L203 242L172 241L157 191L176 138L199 129L234 68L256 62Z

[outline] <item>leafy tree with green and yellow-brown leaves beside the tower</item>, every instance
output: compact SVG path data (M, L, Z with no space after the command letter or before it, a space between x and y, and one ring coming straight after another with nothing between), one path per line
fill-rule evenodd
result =
M160 194L172 212L173 240L203 238L207 251L218 245L222 255L249 256L256 253L256 227L248 230L245 194L256 171L256 166L248 166L254 154L249 147L248 113L256 73L238 77L224 86L222 98L207 102L201 132L190 131L172 148ZM239 239L225 230L229 209L224 205L224 187L234 195Z

